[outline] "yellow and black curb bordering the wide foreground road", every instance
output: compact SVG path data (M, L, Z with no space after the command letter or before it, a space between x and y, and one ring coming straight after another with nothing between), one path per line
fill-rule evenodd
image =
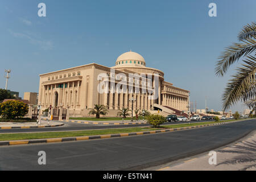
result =
M17 145L17 144L33 144L33 143L71 142L71 141L79 141L79 140L103 139L103 138L114 138L114 137L129 137L129 136L134 136L134 135L145 135L145 134L172 132L172 131L186 130L186 129L195 129L195 128L198 128L198 127L213 126L213 125L223 125L223 124L226 124L226 123L234 123L234 122L239 122L239 121L229 121L229 122L223 122L223 123L213 123L213 124L208 124L208 125L180 127L180 128L176 128L176 129L162 129L162 130L154 130L154 131L141 131L141 132L134 132L134 133L93 135L93 136L83 136L83 137L32 139L32 140L13 140L13 141L0 142L0 146L11 146L11 145Z

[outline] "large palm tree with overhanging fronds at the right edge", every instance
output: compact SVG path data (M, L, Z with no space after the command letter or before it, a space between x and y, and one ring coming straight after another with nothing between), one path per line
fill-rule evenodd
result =
M232 76L226 85L222 95L223 110L229 109L238 101L243 101L246 105L255 110L256 94L256 23L247 24L238 34L238 40L242 43L233 43L222 52L217 61L215 73L217 76L224 76L230 65L236 63L241 57L242 67L238 67L236 75Z

